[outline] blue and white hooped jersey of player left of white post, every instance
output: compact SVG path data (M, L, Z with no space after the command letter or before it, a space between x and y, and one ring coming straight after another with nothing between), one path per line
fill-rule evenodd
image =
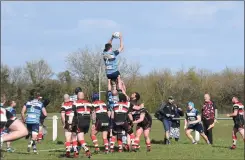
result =
M27 117L26 123L27 124L37 124L40 123L40 116L43 109L43 103L37 99L28 101L26 104L27 110Z

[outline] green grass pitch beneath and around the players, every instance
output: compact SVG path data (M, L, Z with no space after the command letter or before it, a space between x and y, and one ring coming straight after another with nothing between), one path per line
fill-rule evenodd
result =
M49 114L52 116L55 114ZM58 140L64 142L64 133L60 121L58 121ZM183 121L182 121L183 124ZM33 153L28 154L26 152L27 141L25 139L18 140L13 143L13 147L16 149L15 153L5 153L4 159L65 159L63 158L64 150L56 150L64 148L63 144L57 144L52 142L52 121L47 120L46 125L48 127L48 135L45 140L38 144L39 155ZM163 144L152 144L152 151L147 153L144 139L141 139L141 150L137 153L113 153L105 155L103 153L93 155L92 159L244 159L244 142L241 136L238 135L238 146L236 150L229 150L228 147L232 143L231 129L232 121L220 120L214 129L214 145L208 146L201 139L198 145L192 145L186 138L183 131L183 125L181 126L181 139L178 143L172 142L171 145L166 146ZM86 135L87 143L92 144L89 135ZM101 143L101 136L98 135L98 139ZM154 120L151 131L151 139L159 142L163 140L163 127L160 121ZM93 150L93 148L92 148ZM83 154L80 154L80 158L87 159Z

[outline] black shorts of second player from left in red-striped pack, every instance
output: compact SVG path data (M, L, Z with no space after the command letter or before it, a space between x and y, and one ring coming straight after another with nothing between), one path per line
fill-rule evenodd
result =
M77 120L77 132L83 132L84 134L88 133L90 126L90 115L89 116L78 116Z

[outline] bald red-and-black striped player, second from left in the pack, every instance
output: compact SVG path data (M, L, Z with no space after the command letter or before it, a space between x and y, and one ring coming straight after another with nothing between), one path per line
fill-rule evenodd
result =
M77 127L77 138L81 147L86 152L88 158L91 157L91 153L85 142L84 136L89 131L92 104L84 99L84 93L78 92L77 100L73 103L72 110L74 113L74 120Z

